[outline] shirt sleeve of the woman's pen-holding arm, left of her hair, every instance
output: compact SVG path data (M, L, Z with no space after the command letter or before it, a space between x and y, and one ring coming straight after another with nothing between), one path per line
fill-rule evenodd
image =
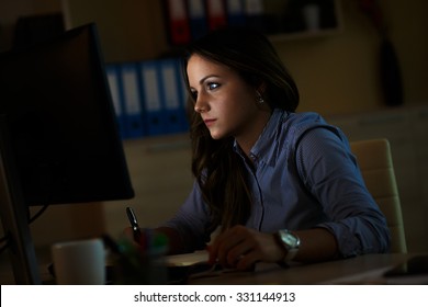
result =
M185 202L162 227L176 229L184 243L182 252L192 252L204 249L210 241L211 234L207 231L210 220L207 205L203 202L198 182L194 182Z

